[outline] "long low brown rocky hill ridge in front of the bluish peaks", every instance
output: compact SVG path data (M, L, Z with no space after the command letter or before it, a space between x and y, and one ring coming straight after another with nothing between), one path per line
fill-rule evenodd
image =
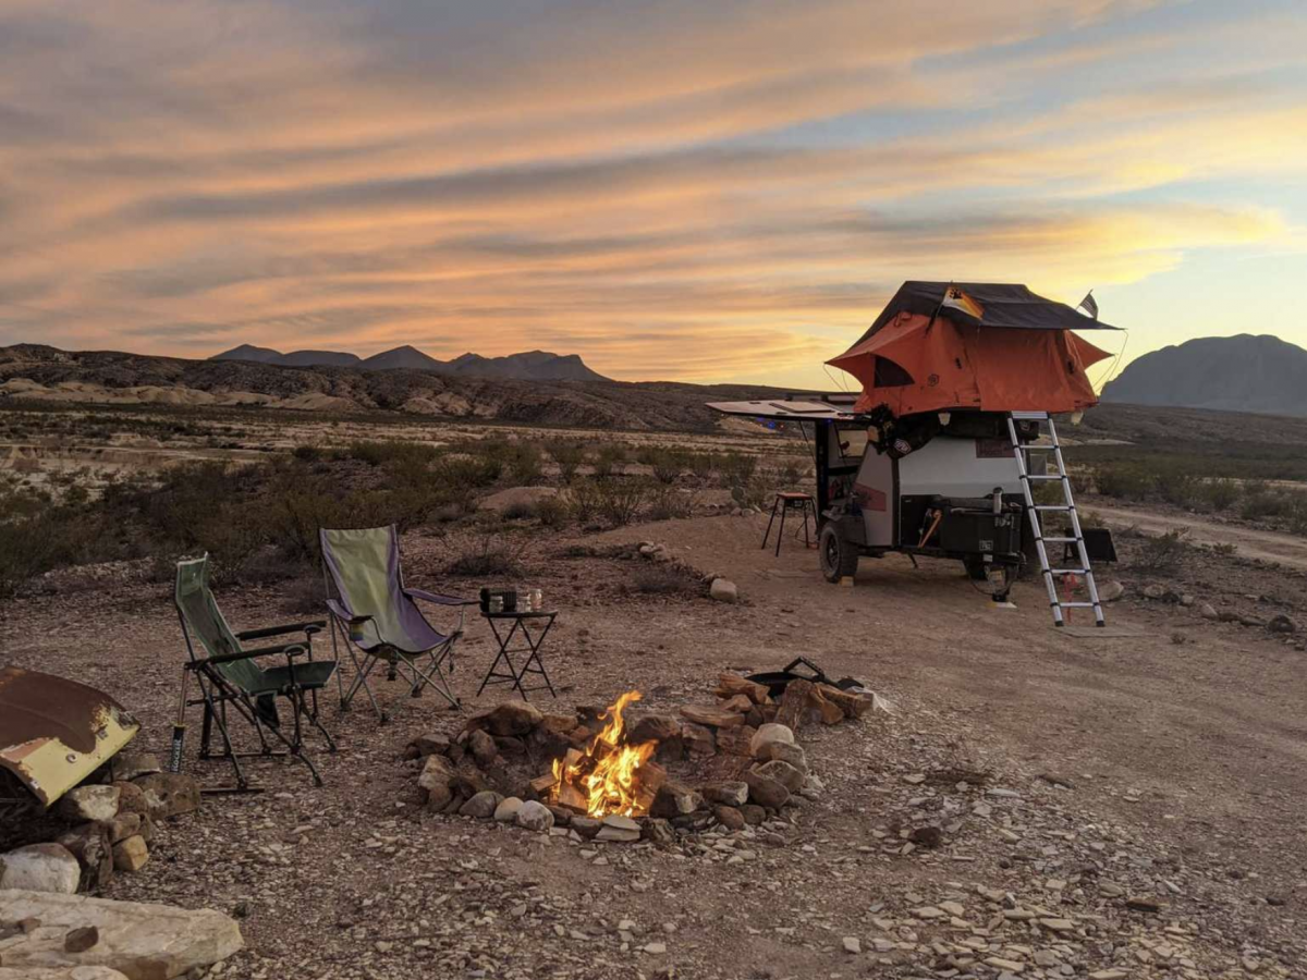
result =
M706 431L719 416L703 402L782 393L755 385L527 380L406 367L288 367L256 358L188 361L39 344L0 348L0 399L38 401L383 409L532 425Z

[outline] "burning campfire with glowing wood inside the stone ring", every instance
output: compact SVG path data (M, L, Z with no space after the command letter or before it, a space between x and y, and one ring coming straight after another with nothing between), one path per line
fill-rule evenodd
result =
M606 720L586 750L569 749L554 759L554 784L549 800L587 817L643 817L665 772L651 758L657 742L631 745L626 741L622 711L640 699L639 691L627 691L599 716Z

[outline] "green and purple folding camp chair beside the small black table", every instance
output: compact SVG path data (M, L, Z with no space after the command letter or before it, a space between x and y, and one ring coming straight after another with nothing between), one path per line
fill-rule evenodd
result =
M354 662L354 679L346 690L340 674L340 707L348 710L359 690L367 694L376 716L387 713L376 703L367 678L382 661L389 679L404 670L410 694L417 698L431 686L451 708L459 699L450 690L444 664L454 670L454 644L463 636L464 608L473 600L440 596L404 585L400 568L400 541L395 525L386 528L320 529L323 578L327 581L327 608L332 614L332 651L340 632ZM335 591L336 597L329 597ZM414 600L459 609L459 625L448 634L435 630L422 615ZM359 659L362 655L362 659Z

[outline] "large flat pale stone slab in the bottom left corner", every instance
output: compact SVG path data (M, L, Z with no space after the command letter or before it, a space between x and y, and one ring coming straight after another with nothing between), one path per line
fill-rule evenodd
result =
M41 920L41 929L4 950L5 968L26 968L33 972L24 975L33 977L42 967L101 967L133 980L179 977L204 972L244 945L235 920L212 909L12 891L5 895L5 916ZM97 942L82 953L67 951L65 937L74 929L95 929ZM77 973L72 977L80 980Z

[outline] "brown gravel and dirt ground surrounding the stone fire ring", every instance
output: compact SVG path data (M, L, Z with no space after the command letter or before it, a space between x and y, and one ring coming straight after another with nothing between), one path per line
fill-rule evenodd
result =
M761 532L723 516L583 540L664 544L733 579L740 605L633 593L631 562L562 558L569 542L544 537L523 579L561 610L545 648L559 707L630 687L651 710L707 703L720 669L799 653L889 698L893 715L802 729L826 789L779 832L582 847L433 815L403 749L461 716L382 682L386 727L327 708L341 751L318 757L324 788L252 763L267 792L207 797L106 894L240 916L248 949L213 971L231 977L1307 973L1300 634L1199 612L1303 623L1300 576L1210 555L1167 583L1196 592L1184 606L1123 575L1111 622L1132 635L1084 639L1051 629L1036 583L992 610L959 567L890 558L838 588L812 551L761 551ZM446 580L450 547L406 540L409 581L480 587ZM169 587L128 567L51 588L0 610L0 660L106 689L166 754L183 656ZM248 629L298 615L303 595L220 600ZM461 652L456 690L494 703L471 698L491 656L478 619ZM925 826L937 847L912 843Z

